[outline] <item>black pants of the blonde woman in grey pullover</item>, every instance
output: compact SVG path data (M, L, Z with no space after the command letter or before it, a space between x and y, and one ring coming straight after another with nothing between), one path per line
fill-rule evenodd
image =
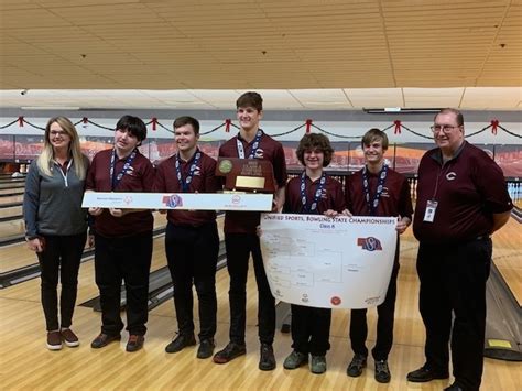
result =
M42 272L42 306L47 332L69 327L78 290L78 270L86 232L72 236L43 236L45 247L36 253ZM58 275L62 283L58 322Z

